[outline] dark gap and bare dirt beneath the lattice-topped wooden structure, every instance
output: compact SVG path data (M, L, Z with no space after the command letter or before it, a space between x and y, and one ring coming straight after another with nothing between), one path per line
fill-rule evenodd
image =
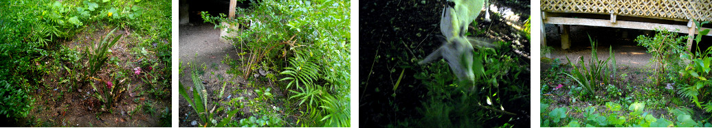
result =
M598 58L605 60L608 58L608 48L613 47L618 66L632 66L634 68L647 69L650 62L651 54L646 52L645 47L637 46L635 37L645 35L642 30L627 30L618 28L604 27L587 27L580 25L572 25L570 29L571 48L561 50L560 30L554 25L546 25L547 44L553 47L554 50L550 54L551 59L560 59L561 62L566 62L566 57L569 57L572 62L577 57L583 57L588 63L591 58L591 45L588 35L598 43L596 48ZM624 36L623 31L626 31ZM574 64L577 64L574 62Z

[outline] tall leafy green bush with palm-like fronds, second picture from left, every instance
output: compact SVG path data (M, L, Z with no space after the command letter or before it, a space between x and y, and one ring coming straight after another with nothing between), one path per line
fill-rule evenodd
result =
M298 118L307 127L350 127L350 20L348 1L275 1L237 8L236 19L224 14L205 22L238 32L232 40L242 49L245 78L259 68L282 70L290 100L307 114ZM234 30L218 23L239 25ZM286 61L279 57L289 57ZM285 66L286 67L281 67ZM290 107L292 108L292 107Z

